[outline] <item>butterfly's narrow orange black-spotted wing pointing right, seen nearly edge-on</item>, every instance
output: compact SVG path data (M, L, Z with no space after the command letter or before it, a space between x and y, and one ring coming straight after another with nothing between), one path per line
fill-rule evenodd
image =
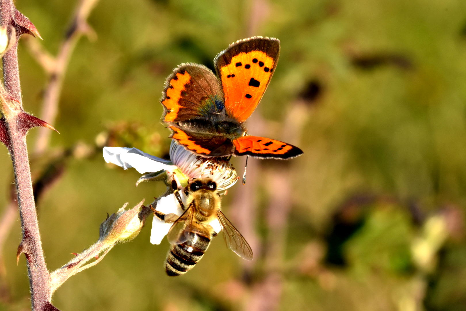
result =
M294 145L260 136L243 136L233 140L233 145L235 155L248 154L261 159L289 159L302 154L302 150Z

